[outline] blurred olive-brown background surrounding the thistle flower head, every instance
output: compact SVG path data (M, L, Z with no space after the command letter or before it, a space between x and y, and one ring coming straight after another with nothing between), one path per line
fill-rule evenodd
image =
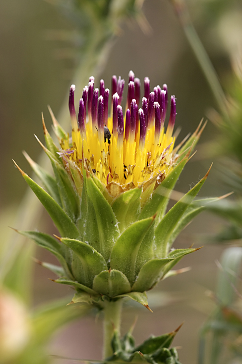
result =
M72 83L77 53L81 39L71 18L58 11L51 2L42 0L2 0L0 3L0 138L1 179L0 213L2 239L7 239L7 226L13 226L18 206L27 190L25 181L11 159L31 174L30 166L22 155L25 150L35 161L41 147L34 133L43 141L41 112L47 128L51 129L47 105L55 116ZM192 0L187 2L192 21L216 69L224 89L233 80L231 59L241 50L242 5L230 0ZM175 95L177 105L176 127L181 127L178 141L193 132L200 120L207 117L211 108L217 109L208 83L188 44L179 21L168 0L149 0L143 5L143 13L149 26L144 32L138 22L128 19L118 28L110 54L99 67L96 84L105 80L110 88L111 76L116 74L128 81L133 70L136 77L148 76L151 88L167 83L168 93ZM71 34L72 41L68 34ZM74 36L76 34L76 37ZM90 74L86 74L85 84ZM125 97L127 94L127 83ZM82 85L85 86L85 84ZM82 88L76 89L81 97ZM125 98L124 98L125 99ZM67 120L68 124L69 120ZM208 141L217 138L219 130L208 122L197 147L198 152L186 166L176 185L180 192L187 192L207 172L211 161L212 171L200 192L200 196L219 196L231 191L223 184L218 171L216 146L206 153ZM209 155L211 155L209 157ZM28 207L31 212L31 206ZM191 266L192 270L161 282L150 293L150 306L154 313L136 306L127 306L124 312L126 332L139 315L134 336L137 343L150 334L160 335L178 327L174 345L180 347L180 361L193 364L197 360L198 332L214 307L205 294L216 285L215 260L221 255L221 245L207 244L207 236L218 233L223 220L203 213L178 237L175 247L188 248L205 245L198 252L185 257L178 267ZM23 226L16 226L23 229ZM32 230L54 232L47 214L41 222L30 226ZM34 256L53 261L46 252L37 249ZM72 294L72 290L56 285L48 278L51 273L39 265L34 266L32 277L33 306L58 297ZM56 334L49 344L49 352L70 358L99 359L101 356L102 328L97 317L86 317ZM72 363L70 359L56 358L54 363Z

